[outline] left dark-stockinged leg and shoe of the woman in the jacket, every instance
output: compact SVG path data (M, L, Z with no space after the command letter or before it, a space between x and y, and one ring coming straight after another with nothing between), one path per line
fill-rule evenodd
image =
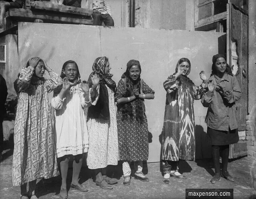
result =
M211 183L215 184L221 178L220 169L220 147L216 145L211 146L212 160L215 170L215 175L211 179Z

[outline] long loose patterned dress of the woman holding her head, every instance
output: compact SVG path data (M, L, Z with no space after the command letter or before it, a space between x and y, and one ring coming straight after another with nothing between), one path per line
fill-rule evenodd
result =
M19 98L12 161L14 186L58 175L48 93L60 86L62 80L51 70L51 79L32 83L33 73L30 66L22 68L17 82Z

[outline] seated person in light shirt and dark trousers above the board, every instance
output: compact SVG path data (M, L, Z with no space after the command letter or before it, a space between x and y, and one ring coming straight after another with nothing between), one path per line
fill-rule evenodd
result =
M89 9L89 1L86 1L85 8ZM114 26L112 13L107 0L93 0L93 25Z

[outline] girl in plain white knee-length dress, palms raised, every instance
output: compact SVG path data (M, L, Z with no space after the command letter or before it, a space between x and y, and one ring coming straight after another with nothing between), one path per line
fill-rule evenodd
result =
M63 64L60 77L63 84L54 90L52 106L55 111L56 149L60 161L61 187L60 197L68 198L67 175L69 161L73 160L71 189L88 191L78 183L82 167L83 154L88 151L88 132L86 126L87 107L95 105L98 95L99 77L92 76L93 88L81 82L77 63L73 60ZM92 101L93 98L93 101Z

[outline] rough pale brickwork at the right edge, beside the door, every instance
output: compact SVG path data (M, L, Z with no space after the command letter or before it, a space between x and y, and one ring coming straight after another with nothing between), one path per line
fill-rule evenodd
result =
M248 157L256 157L256 105L246 116L246 138Z

